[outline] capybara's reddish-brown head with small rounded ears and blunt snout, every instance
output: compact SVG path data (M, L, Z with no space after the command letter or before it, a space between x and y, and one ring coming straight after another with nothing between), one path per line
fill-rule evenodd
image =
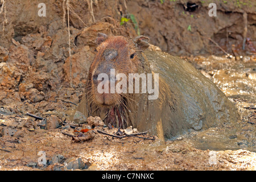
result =
M115 87L122 80L117 75L122 73L128 80L129 73L137 73L141 64L138 54L149 46L148 40L146 36L127 39L123 36L108 37L106 34L98 34L97 53L88 76L90 96L94 104L104 107L121 104L124 93L120 89L123 85L119 90Z

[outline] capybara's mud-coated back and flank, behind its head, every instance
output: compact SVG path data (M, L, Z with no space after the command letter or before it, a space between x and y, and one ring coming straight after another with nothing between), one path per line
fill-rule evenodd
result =
M157 122L161 120L164 137L172 138L237 122L236 106L190 63L161 51L144 51L142 57L152 72L159 73L159 98L153 101L154 107L137 113L147 113L147 117L135 121L135 127L157 133Z

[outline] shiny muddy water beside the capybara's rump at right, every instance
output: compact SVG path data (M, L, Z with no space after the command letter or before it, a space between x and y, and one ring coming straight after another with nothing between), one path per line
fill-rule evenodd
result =
M188 59L189 60L189 59ZM241 119L236 125L212 127L200 133L184 136L186 142L201 150L256 151L256 61L247 56L241 60L225 57L193 57L190 59L234 102ZM180 138L181 139L181 138Z

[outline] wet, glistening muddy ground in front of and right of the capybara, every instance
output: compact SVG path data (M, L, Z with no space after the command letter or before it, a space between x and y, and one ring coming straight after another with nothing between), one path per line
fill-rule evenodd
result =
M236 103L241 114L238 127L210 128L190 133L173 141L168 140L163 144L156 136L153 136L155 140L135 137L113 138L98 133L97 130L116 135L117 129L96 126L92 130L95 132L94 138L75 142L72 137L63 133L78 135L73 131L88 127L81 125L74 129L68 126L77 125L69 117L74 113L76 105L61 100L41 101L38 104L21 102L20 105L10 104L1 107L1 170L65 170L68 167L65 161L71 159L75 162L80 159L84 164L81 165L81 169L84 170L255 170L255 100L253 97L247 97L246 93L252 95L251 89L246 89L246 86L232 88L232 84L239 78L245 79L247 85L253 88L255 79L246 76L254 73L251 70L253 68L246 69L246 64L255 63L255 57L250 57L248 62L238 63L217 56L187 59L192 61L195 67L200 67L201 72L208 74L207 76L213 81L216 79L214 82L221 89L224 88L224 92L228 90L227 82L233 93L240 93L240 90L243 90L245 94L237 94L239 97L232 95L233 97L230 98ZM210 64L205 63L209 59L212 60ZM221 73L222 70L216 69L214 59L225 60L223 63L230 66L225 69L227 71L232 69L237 76L234 76L232 81L229 76L222 76L222 81L217 80L217 73ZM240 65L240 69L233 69L237 64ZM77 92L75 89L67 91ZM64 95L67 96L67 93ZM76 102L75 99L69 101ZM46 117L51 122L55 118L52 115L55 115L60 125L57 129L40 129L42 120L35 121L35 118L26 115L28 111L40 117ZM149 135L138 136L152 138ZM38 163L39 151L46 152L47 165ZM63 156L63 162L51 163L56 155ZM213 162L212 159L214 159Z

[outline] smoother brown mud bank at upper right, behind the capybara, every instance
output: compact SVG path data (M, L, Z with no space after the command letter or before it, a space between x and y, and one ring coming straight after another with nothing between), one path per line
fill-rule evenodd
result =
M217 16L208 15L209 3L216 3ZM196 8L190 8L194 6ZM222 55L226 52L246 55L255 52L254 1L128 1L127 11L139 22L141 35L172 55ZM243 14L246 13L246 20ZM164 26L162 26L164 24ZM247 32L245 32L245 27ZM245 50L243 39L248 38ZM210 39L209 39L210 38Z

